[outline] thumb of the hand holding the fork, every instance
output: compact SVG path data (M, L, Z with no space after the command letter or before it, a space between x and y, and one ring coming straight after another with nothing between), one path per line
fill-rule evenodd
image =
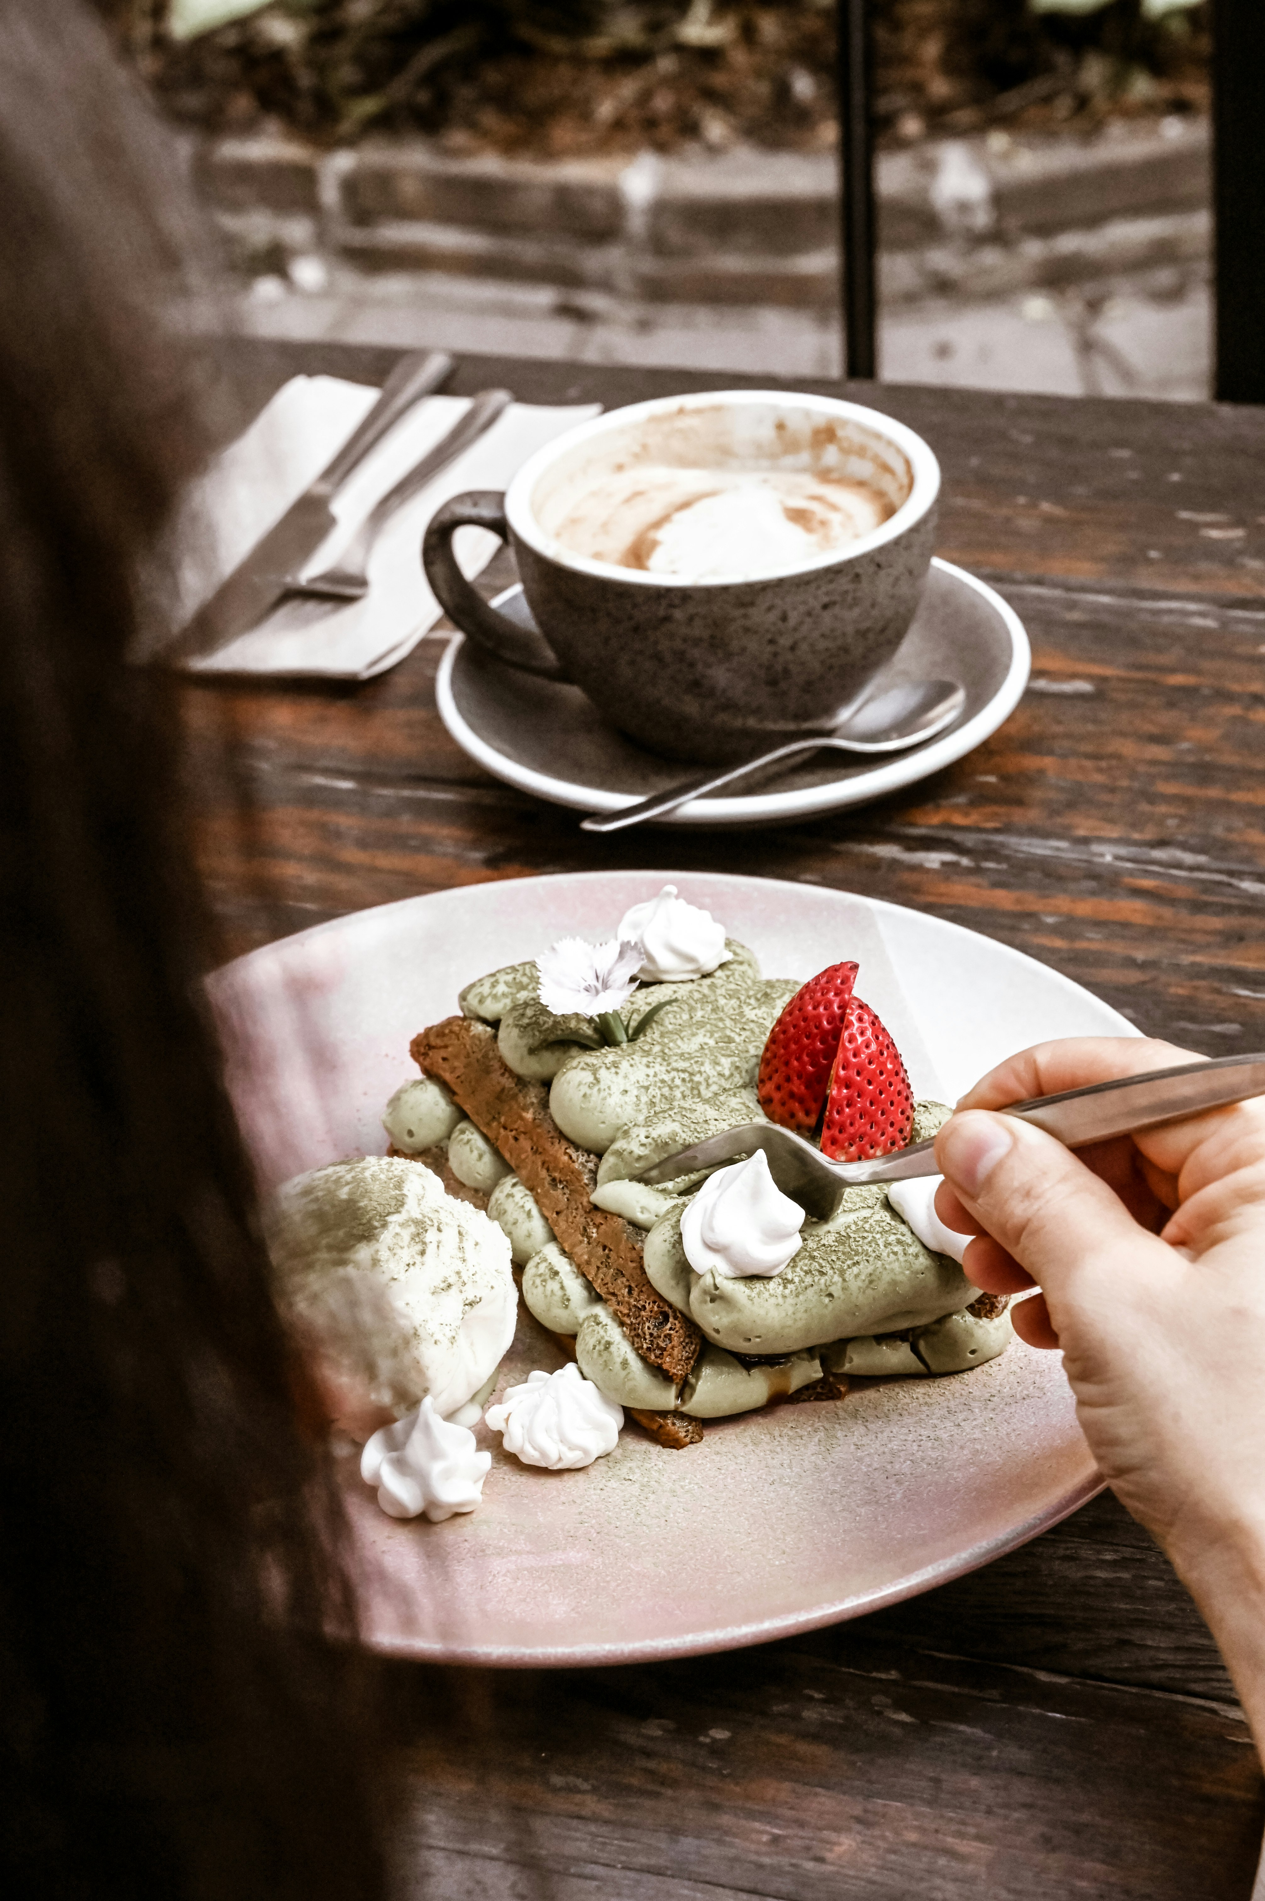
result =
M1016 1116L951 1116L936 1162L964 1207L1048 1293L1069 1291L1079 1270L1109 1253L1117 1268L1143 1268L1153 1249L1158 1266L1170 1253L1069 1148Z

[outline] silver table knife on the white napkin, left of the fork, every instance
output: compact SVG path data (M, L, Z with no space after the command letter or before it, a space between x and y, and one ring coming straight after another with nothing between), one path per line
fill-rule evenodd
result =
M451 369L453 357L443 350L426 354L415 350L396 363L380 397L335 458L251 547L232 574L219 584L183 633L164 648L162 660L167 665L215 654L221 646L236 641L240 633L249 633L251 627L259 625L268 608L285 593L287 576L301 572L302 563L337 527L329 504L342 483L415 403L439 388Z

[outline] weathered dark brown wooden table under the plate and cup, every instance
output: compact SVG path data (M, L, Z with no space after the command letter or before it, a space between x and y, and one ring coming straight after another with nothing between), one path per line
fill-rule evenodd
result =
M240 346L255 405L297 369L380 380L392 359ZM468 359L453 388L616 405L740 380ZM358 688L190 684L224 952L453 884L671 863L926 909L1149 1032L1214 1055L1265 1047L1265 413L850 394L926 435L945 475L940 553L1029 627L1033 682L993 739L911 793L803 827L601 840L453 745L432 698L439 641ZM1255 1753L1193 1604L1111 1496L970 1578L763 1650L384 1671L409 1783L405 1893L1252 1891Z

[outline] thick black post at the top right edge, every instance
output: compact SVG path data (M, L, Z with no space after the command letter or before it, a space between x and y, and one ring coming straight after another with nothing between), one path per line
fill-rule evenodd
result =
M1265 4L1214 0L1216 395L1265 403Z

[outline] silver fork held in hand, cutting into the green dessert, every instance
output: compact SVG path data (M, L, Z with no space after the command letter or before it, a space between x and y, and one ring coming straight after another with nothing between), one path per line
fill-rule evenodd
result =
M1025 1103L1008 1103L999 1114L1031 1122L1067 1148L1084 1148L1086 1143L1132 1135L1136 1129L1157 1129L1164 1122L1181 1122L1183 1116L1225 1108L1254 1095L1265 1095L1265 1053L1259 1051L1246 1057L1216 1057L1208 1063L1177 1063L1166 1070L1094 1082L1084 1089L1063 1089L1061 1095L1035 1095ZM763 1148L778 1188L810 1215L827 1220L845 1188L940 1175L934 1146L934 1143L913 1143L873 1162L831 1162L791 1129L780 1129L774 1122L744 1122L742 1127L725 1129L704 1143L664 1156L632 1181L668 1182Z

